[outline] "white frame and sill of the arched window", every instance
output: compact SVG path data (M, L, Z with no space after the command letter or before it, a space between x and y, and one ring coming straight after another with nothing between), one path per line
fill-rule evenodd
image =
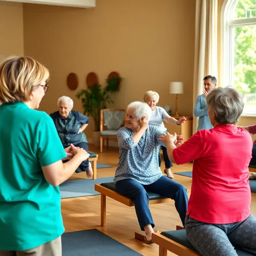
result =
M220 78L221 85L233 85L234 79L234 28L241 25L256 25L256 18L231 20L236 3L240 0L225 0L221 9ZM242 114L256 117L255 114Z

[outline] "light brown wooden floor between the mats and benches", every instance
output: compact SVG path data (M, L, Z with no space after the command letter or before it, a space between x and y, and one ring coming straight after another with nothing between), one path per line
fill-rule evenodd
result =
M98 169L97 176L114 176L118 164L119 152L117 148L104 149L99 153L99 149L89 145L89 150L99 154L99 163L113 165L113 168ZM162 170L164 165L162 163ZM172 168L172 173L192 170L192 164L176 165ZM86 178L85 172L74 174L70 179L76 180ZM175 181L182 183L191 189L191 178L180 175L174 176ZM107 198L107 226L100 226L100 196L86 196L73 199L62 199L61 209L66 232L81 231L85 229L97 228L99 231L111 236L113 239L134 249L142 255L158 255L158 246L155 244L146 245L134 238L135 232L140 232L137 216L134 207L127 207L123 204ZM175 209L174 203L162 203L150 206L155 230L159 232L175 230L176 225L181 225L180 217ZM252 194L251 204L252 214L256 215L256 194ZM100 241L99 241L100 242ZM168 252L169 255L175 255Z

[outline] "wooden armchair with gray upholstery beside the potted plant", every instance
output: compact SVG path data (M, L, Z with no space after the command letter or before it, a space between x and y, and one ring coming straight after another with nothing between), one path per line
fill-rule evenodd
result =
M117 130L125 126L126 114L121 108L106 108L100 111L100 153L103 152L104 139L117 137Z

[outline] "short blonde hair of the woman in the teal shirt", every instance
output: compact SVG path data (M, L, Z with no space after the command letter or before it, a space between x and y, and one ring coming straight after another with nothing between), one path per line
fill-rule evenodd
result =
M0 65L0 101L29 101L31 92L48 79L48 69L31 57L7 57Z

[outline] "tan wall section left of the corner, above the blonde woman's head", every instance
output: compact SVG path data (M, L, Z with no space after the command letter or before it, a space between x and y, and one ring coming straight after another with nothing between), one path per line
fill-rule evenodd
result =
M0 56L23 55L23 4L0 1Z

